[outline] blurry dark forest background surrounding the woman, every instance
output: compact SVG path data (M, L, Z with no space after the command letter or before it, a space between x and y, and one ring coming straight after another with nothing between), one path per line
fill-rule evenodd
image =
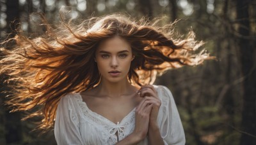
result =
M173 93L186 144L256 144L256 1L0 0L0 41L13 37L9 34L17 24L25 33L35 31L29 21L35 11L45 13L50 24L58 23L61 6L70 6L72 17L122 12L150 20L165 16L166 24L180 19L177 32L186 35L192 28L218 58L157 78L156 84ZM0 144L56 144L53 130L39 137L30 132L35 125L20 121L22 113L8 113L0 95Z

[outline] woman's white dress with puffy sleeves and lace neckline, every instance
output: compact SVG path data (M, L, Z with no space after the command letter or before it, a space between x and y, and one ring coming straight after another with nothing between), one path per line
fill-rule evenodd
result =
M164 144L185 144L185 135L172 93L166 86L156 86L161 106L157 124ZM56 111L54 135L59 145L116 144L131 134L135 125L135 108L120 123L113 123L90 110L80 93L61 98ZM116 137L116 132L118 137ZM148 144L147 137L139 144Z

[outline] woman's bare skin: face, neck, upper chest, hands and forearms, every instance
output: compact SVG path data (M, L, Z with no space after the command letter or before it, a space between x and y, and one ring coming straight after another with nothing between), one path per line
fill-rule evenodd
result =
M129 83L127 74L134 59L131 46L125 39L115 36L102 41L95 52L95 62L102 78L92 90L82 92L87 106L113 123L122 121L134 107L134 132L117 144L138 144L148 135L150 144L164 144L157 126L161 100L152 85L136 88ZM116 76L110 71L119 71Z

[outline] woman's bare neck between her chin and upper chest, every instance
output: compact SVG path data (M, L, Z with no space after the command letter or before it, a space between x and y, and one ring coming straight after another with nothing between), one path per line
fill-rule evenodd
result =
M111 83L103 79L100 81L97 88L99 89L100 94L107 95L108 97L120 97L121 95L136 92L136 88L132 86L127 79L116 83Z

